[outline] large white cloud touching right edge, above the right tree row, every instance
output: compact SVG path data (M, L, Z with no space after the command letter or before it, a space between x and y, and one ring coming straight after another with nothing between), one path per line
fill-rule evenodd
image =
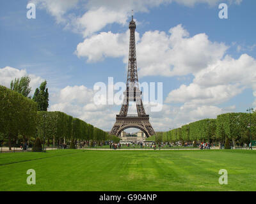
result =
M221 104L246 88L256 91L256 61L247 54L226 56L195 73L193 82L168 94L167 103Z

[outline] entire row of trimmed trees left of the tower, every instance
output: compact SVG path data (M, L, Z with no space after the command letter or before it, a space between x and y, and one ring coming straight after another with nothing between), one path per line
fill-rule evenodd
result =
M33 143L36 137L45 145L66 143L73 148L77 142L118 140L66 113L38 111L38 103L1 85L0 98L0 142L8 142L10 149L13 143Z

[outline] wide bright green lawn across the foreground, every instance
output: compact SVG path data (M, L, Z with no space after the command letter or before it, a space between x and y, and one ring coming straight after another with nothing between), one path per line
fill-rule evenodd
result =
M36 171L36 185L26 171ZM220 185L218 171L228 171ZM0 191L256 191L256 151L49 150L0 154Z

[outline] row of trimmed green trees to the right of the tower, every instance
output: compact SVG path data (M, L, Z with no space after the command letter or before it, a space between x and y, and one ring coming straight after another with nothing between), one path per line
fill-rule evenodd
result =
M232 143L243 145L250 143L250 131L252 140L256 135L256 113L225 113L217 116L217 119L204 119L191 122L180 128L172 129L164 133L147 138L156 142L185 142L189 143Z

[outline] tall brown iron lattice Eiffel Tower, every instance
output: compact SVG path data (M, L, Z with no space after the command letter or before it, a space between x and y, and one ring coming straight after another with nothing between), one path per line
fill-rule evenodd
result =
M124 101L119 115L116 115L116 122L111 129L110 135L118 136L124 129L138 128L145 133L145 135L155 135L155 131L149 122L149 115L146 114L141 94L138 85L138 72L136 62L136 47L135 47L135 29L136 24L133 20L129 23L130 29L130 44L129 44L129 62L127 72L126 91L124 91ZM129 108L129 101L136 101L136 108L138 115L127 115Z

